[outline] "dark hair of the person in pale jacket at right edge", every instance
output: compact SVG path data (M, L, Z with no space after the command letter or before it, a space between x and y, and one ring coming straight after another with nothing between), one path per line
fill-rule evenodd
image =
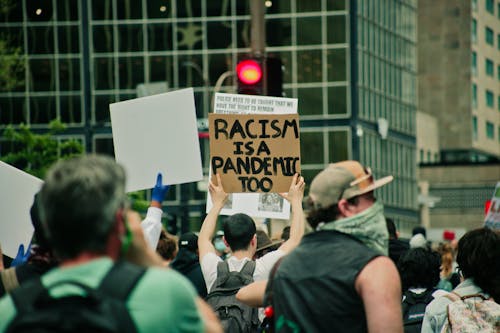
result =
M500 233L489 228L467 232L458 241L457 263L464 278L500 301Z

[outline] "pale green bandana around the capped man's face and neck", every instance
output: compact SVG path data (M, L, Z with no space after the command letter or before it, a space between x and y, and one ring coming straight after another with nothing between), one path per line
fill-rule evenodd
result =
M379 202L359 214L325 223L318 229L343 232L356 237L383 255L389 253L389 233L385 223L384 206Z

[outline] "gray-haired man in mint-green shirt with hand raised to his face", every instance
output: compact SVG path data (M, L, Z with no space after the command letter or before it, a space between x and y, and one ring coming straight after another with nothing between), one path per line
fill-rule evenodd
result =
M103 288L101 282L113 271L126 281L129 273L141 270L128 298L121 301L138 332L201 332L202 316L207 319L205 325L220 331L214 314L197 298L189 281L173 270L152 267L161 261L147 245L139 215L128 208L125 181L123 167L105 156L62 160L49 169L40 191L40 216L61 263L37 282L51 295L52 288L57 288L58 297L74 296L75 283L95 290ZM73 283L72 288L58 289L68 283ZM19 320L13 320L19 310L16 295L33 286L22 285L0 300L0 332Z

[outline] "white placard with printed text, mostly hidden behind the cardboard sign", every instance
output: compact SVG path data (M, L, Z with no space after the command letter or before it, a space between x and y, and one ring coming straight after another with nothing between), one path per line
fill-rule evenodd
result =
M297 113L297 107L296 98L216 93L214 99L214 113L289 114ZM211 176L210 171L208 179L211 179ZM210 208L212 208L212 198L207 191L207 213ZM286 220L290 218L290 203L277 193L232 193L220 215L236 213Z

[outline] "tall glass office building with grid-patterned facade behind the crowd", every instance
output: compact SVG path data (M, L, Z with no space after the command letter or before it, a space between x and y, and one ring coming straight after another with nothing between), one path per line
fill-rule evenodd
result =
M405 230L418 223L416 3L265 2L266 52L284 64L285 95L299 99L306 180L344 159L378 177L393 174L379 197ZM21 47L25 65L24 83L0 91L0 126L44 131L60 118L64 135L107 154L110 103L193 87L204 119L216 83L234 92L231 72L251 51L248 1L240 0L22 0L0 29ZM200 143L208 174L208 142ZM205 195L199 184L176 186L166 204L195 229Z

